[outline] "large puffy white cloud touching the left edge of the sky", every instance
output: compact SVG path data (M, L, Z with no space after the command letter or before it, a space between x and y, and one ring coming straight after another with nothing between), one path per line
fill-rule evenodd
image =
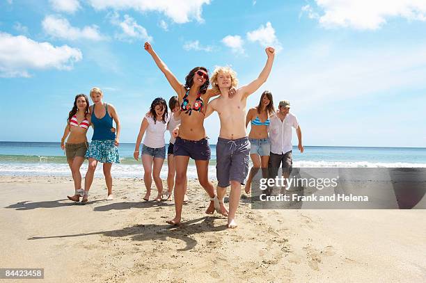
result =
M79 49L68 45L54 47L23 35L0 33L0 76L3 77L29 77L31 69L70 70L82 57Z

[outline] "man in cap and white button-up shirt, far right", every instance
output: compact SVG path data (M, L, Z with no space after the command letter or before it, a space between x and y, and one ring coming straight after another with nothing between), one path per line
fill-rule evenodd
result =
M272 116L269 124L269 140L271 141L271 155L269 156L270 178L278 175L278 168L282 163L283 177L287 178L292 172L292 127L296 129L299 140L299 150L303 153L301 129L296 116L290 113L290 102L283 100L279 104L278 112Z

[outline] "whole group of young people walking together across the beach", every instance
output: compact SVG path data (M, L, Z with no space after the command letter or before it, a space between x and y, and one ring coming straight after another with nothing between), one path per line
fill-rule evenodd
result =
M228 227L237 227L235 213L239 205L241 186L246 184L249 156L253 169L245 186L246 193L250 191L251 179L259 168L262 168L263 172L268 165L279 167L282 163L283 168L291 166L291 127L297 129L299 149L303 152L301 129L297 118L289 113L289 102L280 102L276 112L271 92L265 91L260 97L259 105L250 109L246 115L248 96L267 81L271 72L274 48L265 49L267 62L258 78L239 88L236 73L230 67L216 67L211 77L205 67L194 67L187 74L185 82L180 83L149 42L145 42L144 48L177 95L171 97L168 106L164 98L154 99L141 122L134 159L139 160L141 157L143 163L143 180L147 189L143 200L150 200L152 179L157 187L154 200L162 200L163 195L166 195L166 200L171 200L174 191L175 217L167 220L167 223L180 225L183 203L187 198L187 168L191 158L196 164L200 186L210 196L210 204L205 212L221 213L228 217ZM88 191L98 162L103 163L108 199L112 200L111 165L120 163L117 150L120 120L116 109L103 102L103 94L99 88L90 90L90 98L93 105L89 107L86 95L75 97L61 143L74 179L75 193L68 198L75 202L78 202L80 197L83 197L81 202L88 201ZM218 113L221 123L216 144L216 191L208 176L211 151L204 128L205 118L214 111ZM112 120L116 122L116 128L113 127ZM251 131L247 136L246 127L249 123ZM93 125L94 131L92 142L88 145L86 132L90 124ZM171 140L167 147L168 190L164 194L159 175L166 158L164 133L167 130L171 132ZM68 134L70 137L65 145ZM82 189L79 168L84 158L88 159L89 165ZM228 186L229 210L223 204Z

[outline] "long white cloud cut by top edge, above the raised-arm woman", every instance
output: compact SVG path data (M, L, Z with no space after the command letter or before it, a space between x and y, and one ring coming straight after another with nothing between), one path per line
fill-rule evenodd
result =
M159 12L173 19L173 22L183 24L196 19L197 22L204 22L201 14L203 5L210 4L210 0L89 0L93 8L104 10L112 8L115 10L133 9L140 12Z

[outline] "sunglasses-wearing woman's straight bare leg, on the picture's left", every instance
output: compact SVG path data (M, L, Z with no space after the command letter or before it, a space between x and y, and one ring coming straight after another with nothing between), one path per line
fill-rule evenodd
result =
M168 224L179 225L180 218L182 217L182 206L184 200L184 182L187 178L189 156L175 156L175 218L167 220Z

